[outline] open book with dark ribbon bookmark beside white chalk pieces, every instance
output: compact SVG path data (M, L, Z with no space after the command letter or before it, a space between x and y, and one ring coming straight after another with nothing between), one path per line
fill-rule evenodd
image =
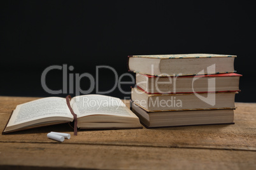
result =
M70 107L70 108L69 108ZM17 105L4 133L74 121L81 129L142 128L138 117L119 98L103 95L49 97Z

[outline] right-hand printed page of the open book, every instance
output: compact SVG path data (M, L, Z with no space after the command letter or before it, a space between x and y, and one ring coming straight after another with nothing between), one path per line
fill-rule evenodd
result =
M117 115L136 117L119 98L104 95L76 96L71 100L71 107L78 117L87 115Z

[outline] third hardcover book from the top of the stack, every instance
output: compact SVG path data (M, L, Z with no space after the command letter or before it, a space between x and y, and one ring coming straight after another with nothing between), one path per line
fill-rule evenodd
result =
M132 101L148 112L167 110L211 110L235 108L234 98L238 92L229 93L182 93L148 95L132 88Z

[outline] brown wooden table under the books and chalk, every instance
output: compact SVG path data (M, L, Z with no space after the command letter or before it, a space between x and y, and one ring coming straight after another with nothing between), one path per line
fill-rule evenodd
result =
M0 130L11 110L36 98L0 96ZM235 124L80 131L67 124L0 137L0 169L256 169L256 103L236 103ZM71 133L62 143L50 131Z

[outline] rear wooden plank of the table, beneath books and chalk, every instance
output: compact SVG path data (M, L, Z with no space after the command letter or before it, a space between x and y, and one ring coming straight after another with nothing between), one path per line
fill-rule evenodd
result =
M34 98L0 97L0 130L3 131L17 104L31 100ZM71 140L64 143L256 150L256 104L236 103L236 107L234 125L80 131L78 136L73 136L72 129L62 124L1 135L0 142L56 143L46 138L46 133L59 131L72 134Z

